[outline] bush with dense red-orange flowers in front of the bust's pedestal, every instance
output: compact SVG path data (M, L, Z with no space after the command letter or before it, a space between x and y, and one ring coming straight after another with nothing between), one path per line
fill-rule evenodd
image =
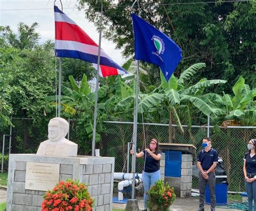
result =
M42 211L91 211L93 203L84 183L60 181L45 193Z

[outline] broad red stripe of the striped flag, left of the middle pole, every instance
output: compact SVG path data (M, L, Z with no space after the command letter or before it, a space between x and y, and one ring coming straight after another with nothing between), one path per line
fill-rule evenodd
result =
M78 25L55 22L55 39L98 46Z

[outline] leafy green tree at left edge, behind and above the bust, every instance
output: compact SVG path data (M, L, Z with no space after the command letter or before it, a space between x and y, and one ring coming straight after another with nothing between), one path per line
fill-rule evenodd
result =
M0 124L10 124L10 115L43 118L44 100L55 90L52 49L39 46L38 24L18 24L14 33L9 26L0 29L1 94ZM46 76L46 77L45 77Z

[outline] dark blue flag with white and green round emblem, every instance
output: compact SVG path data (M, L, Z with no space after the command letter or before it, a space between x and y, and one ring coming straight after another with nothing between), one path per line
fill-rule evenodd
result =
M181 49L171 38L134 13L132 16L135 59L160 67L169 81L181 60Z

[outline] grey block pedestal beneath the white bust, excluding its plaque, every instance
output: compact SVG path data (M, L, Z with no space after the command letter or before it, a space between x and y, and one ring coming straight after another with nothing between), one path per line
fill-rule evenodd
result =
M112 210L114 158L10 154L7 211L41 210L45 192L25 189L26 162L60 164L59 181L76 179L85 183L92 198L95 199L93 210Z

